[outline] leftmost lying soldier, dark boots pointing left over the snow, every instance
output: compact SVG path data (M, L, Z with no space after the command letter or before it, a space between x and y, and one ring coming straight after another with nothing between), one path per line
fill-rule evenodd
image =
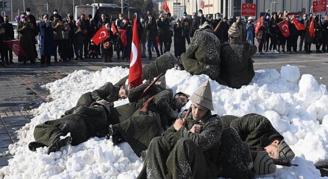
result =
M90 137L104 136L100 131L106 127L110 115L105 100L94 102L90 107L78 107L73 114L36 125L33 133L36 142L29 143L29 149L35 151L38 147L49 146L49 154L68 144L78 145ZM69 132L71 135L67 136Z

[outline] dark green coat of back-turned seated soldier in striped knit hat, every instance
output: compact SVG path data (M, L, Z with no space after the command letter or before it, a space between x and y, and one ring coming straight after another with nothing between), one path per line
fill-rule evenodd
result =
M232 38L221 47L220 78L229 87L240 88L252 81L255 72L251 57L256 50L256 46L242 43L239 38Z

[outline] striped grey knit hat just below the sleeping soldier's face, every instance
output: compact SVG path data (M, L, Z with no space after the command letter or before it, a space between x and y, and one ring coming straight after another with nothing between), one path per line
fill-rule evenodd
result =
M272 174L277 169L277 166L273 163L267 151L260 151L257 153L253 167L258 175Z

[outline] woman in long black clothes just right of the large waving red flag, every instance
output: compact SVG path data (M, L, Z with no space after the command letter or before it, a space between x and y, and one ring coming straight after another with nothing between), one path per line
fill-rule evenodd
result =
M113 57L113 45L112 45L112 39L113 39L113 32L111 31L111 25L107 23L105 25L107 31L108 31L108 37L106 40L101 42L101 48L103 48L103 62L112 62Z

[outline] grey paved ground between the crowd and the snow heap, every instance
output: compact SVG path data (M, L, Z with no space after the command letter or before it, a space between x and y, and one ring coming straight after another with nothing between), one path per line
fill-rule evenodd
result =
M173 46L173 44L172 44ZM312 49L315 52L314 49ZM172 51L171 51L172 52ZM14 64L0 66L0 168L8 165L12 156L8 146L18 141L16 130L22 128L33 118L31 109L37 108L43 102L51 101L49 92L42 88L49 82L64 78L76 70L98 71L108 66L128 67L125 60L104 63L101 59L86 59L83 61L53 62L52 65L40 68L40 63L22 64L14 57ZM153 58L155 59L155 58ZM254 69L276 69L280 73L283 65L297 65L300 73L312 74L319 83L328 84L328 53L305 54L263 54L253 57ZM142 65L148 64L148 58L142 58ZM328 176L328 171L321 168L321 173Z

